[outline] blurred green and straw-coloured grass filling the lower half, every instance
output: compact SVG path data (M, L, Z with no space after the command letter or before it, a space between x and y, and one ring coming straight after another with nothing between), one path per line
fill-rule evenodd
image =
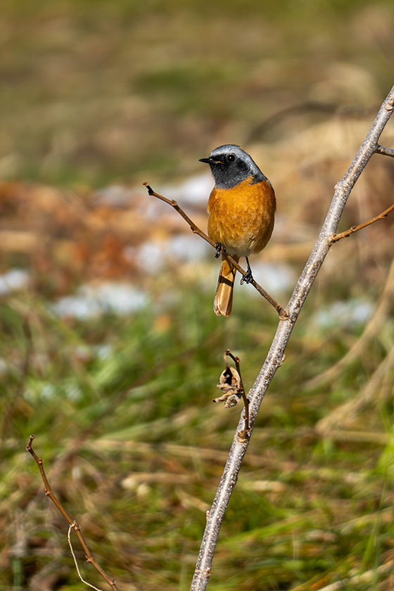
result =
M233 329L242 324L250 336L240 351L249 385L276 322L265 306L251 310L247 296L239 300ZM6 336L0 537L8 549L1 588L15 588L17 571L22 587L32 585L34 574L43 584L45 568L58 573L57 588L82 588L65 522L23 452L30 433L53 489L120 589L188 588L205 510L239 416L238 408L211 402L228 324L212 314L208 295L187 288L164 316L148 308L126 320L64 324L42 304L37 298L0 307ZM305 317L310 311L307 304ZM379 412L357 419L356 433L369 433L364 440L346 440L346 430L339 440L319 436L314 425L338 405L337 390L327 385L311 393L302 384L342 353L326 343L319 366L308 363L301 332L263 402L220 535L214 589L291 589L335 580L379 566L390 552L392 405L381 402ZM371 366L383 355L376 349L365 352ZM341 401L369 379L355 367L341 376L343 387L336 385ZM374 440L375 433L386 433L386 440ZM18 539L22 552L15 549ZM4 568L10 557L13 573ZM103 586L94 572L84 572Z

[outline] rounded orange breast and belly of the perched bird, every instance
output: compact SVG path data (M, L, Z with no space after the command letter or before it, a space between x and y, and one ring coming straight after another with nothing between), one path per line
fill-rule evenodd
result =
M208 201L208 236L230 254L247 257L267 245L277 208L274 189L267 181L246 179L233 189L213 189Z

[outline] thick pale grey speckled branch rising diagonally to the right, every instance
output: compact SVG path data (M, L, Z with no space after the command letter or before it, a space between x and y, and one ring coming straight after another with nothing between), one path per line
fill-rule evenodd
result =
M298 279L298 283L295 286L293 295L291 295L286 307L288 317L279 319L277 332L274 336L274 340L272 341L272 345L269 348L267 358L262 365L262 369L260 370L253 387L249 392L248 438L243 441L239 440L238 432L242 429L244 424L244 419L241 414L239 425L236 428L236 434L229 451L229 457L224 467L222 479L217 488L212 507L207 514L207 523L205 526L203 540L201 542L201 549L198 554L196 570L191 583L191 591L203 591L208 585L212 559L217 544L217 538L220 532L220 526L222 525L222 520L224 518L231 493L236 485L243 457L248 447L258 410L260 409L262 400L269 384L274 377L275 372L281 365L286 345L291 336L291 331L293 330L293 326L298 319L300 310L305 303L307 294L310 292L314 279L316 279L319 269L322 267L324 258L326 258L326 254L329 252L329 249L333 244L332 236L336 233L338 222L341 219L343 208L345 207L345 203L348 200L350 191L352 191L353 186L355 186L357 179L360 177L360 174L367 165L371 155L376 152L379 153L379 151L380 153L384 153L386 155L389 154L388 148L381 148L381 146L378 144L378 140L381 132L388 122L388 119L390 118L391 113L393 113L393 106L394 87L390 90L386 100L379 109L379 113L376 116L371 129L369 129L367 137L364 139L362 146L355 155L355 158L343 176L343 179L341 179L341 181L335 186L335 192L333 194L326 219L324 220L322 231L320 231L310 258L307 260L307 264L300 275L300 279Z

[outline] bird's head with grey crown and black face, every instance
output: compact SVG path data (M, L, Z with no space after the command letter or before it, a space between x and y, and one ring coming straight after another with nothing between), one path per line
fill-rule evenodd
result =
M222 147L222 146L221 146ZM250 156L239 146L223 146L210 153L209 158L201 158L200 162L210 165L215 186L218 189L231 189L250 178L251 182L260 182L264 177Z

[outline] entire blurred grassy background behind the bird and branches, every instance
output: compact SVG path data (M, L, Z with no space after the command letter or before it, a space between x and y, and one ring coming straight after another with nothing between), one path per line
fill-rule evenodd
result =
M198 158L245 148L278 201L253 274L286 305L394 83L393 30L392 0L2 1L0 590L85 588L31 433L120 591L189 589L241 412L212 404L222 355L250 388L277 314L237 284L217 318L219 262L142 182L205 230ZM374 155L340 229L393 193L394 160ZM324 262L260 409L216 591L393 588L393 220Z

